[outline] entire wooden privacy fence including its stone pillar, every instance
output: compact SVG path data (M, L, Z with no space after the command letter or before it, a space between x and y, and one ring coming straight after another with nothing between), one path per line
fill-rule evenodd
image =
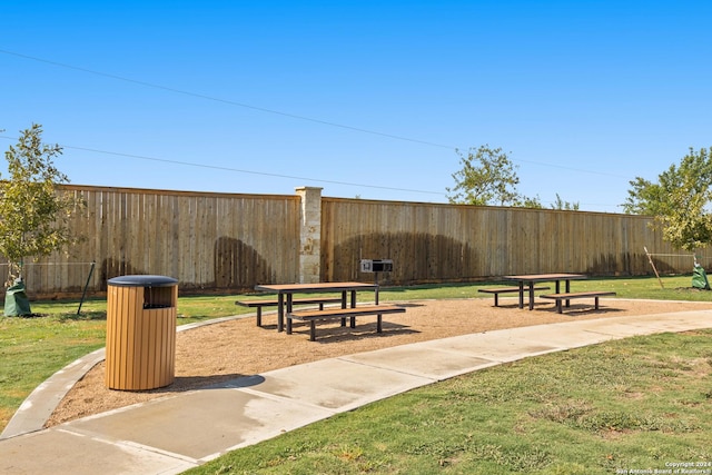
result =
M256 284L362 280L362 258L393 259L397 285L508 274L690 273L649 224L629 215L546 209L63 186L87 202L69 255L28 263L36 297L100 294L120 275L174 277L184 293L245 291ZM89 277L91 263L96 268ZM703 261L703 264L705 264ZM6 270L0 263L0 270ZM7 273L6 273L7 275Z

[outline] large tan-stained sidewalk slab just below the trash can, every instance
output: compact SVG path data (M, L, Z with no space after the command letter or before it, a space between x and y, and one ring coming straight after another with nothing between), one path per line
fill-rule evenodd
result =
M288 399L209 389L88 417L65 427L108 442L130 441L205 462L332 415Z

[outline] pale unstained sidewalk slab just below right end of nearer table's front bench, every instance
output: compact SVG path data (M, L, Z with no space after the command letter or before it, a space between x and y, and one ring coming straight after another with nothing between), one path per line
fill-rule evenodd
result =
M339 359L377 368L393 369L433 380L448 379L500 364L491 359L443 352L423 345L404 345L345 356Z

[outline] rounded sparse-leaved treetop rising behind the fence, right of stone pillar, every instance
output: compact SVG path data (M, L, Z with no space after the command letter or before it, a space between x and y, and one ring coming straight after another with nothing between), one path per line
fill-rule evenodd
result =
M477 149L471 148L466 156L459 150L456 152L463 168L453 174L455 187L446 188L452 194L447 197L449 202L542 208L538 198L520 195L516 189L520 177L502 148L483 145Z

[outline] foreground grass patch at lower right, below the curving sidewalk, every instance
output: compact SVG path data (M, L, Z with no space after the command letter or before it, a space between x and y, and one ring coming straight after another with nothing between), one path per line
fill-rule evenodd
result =
M711 337L633 337L486 368L187 474L710 473Z

